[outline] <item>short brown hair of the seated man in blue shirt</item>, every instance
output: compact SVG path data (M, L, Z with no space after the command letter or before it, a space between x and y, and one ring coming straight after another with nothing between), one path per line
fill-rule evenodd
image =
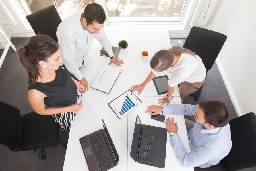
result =
M215 128L224 127L230 121L231 112L226 103L221 101L204 101L198 105L205 114L205 123Z

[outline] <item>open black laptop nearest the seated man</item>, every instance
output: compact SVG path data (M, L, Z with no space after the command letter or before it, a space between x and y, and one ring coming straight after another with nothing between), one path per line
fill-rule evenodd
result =
M166 128L142 125L137 115L130 156L135 162L164 168L166 140Z

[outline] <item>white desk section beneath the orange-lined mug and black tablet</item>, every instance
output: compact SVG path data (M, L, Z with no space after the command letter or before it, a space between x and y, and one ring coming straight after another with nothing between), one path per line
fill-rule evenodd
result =
M171 46L169 34L167 28L147 29L143 32L135 30L134 28L127 28L127 42L129 46L127 48L127 71L128 71L128 86L133 86L132 81L136 82L136 85L141 84L147 78L151 72L150 61L141 61L141 52L147 51L148 55L152 58L154 54L164 46ZM167 75L168 78L171 74L164 71L158 76ZM164 94L165 96L166 94ZM179 97L178 86L174 87L173 96ZM150 81L141 92L140 97L160 97L158 95L156 87L153 81Z

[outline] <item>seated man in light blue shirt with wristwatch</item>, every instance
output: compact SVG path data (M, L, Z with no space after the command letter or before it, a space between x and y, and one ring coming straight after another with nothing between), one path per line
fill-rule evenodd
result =
M192 121L185 119L189 139L189 153L178 135L177 122L169 117L165 125L171 135L169 143L174 148L176 156L185 167L210 167L218 164L230 152L232 142L229 121L231 113L226 103L220 101L205 101L199 105L149 106L146 112L174 115L194 115ZM154 113L150 113L154 115Z

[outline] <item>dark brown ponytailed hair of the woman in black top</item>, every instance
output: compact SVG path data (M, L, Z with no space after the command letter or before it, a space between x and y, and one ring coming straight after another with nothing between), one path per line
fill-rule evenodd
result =
M27 82L31 81L29 86L35 86L38 77L41 77L38 62L47 61L58 50L59 44L55 40L40 34L30 37L27 45L17 50L21 64L28 71Z

